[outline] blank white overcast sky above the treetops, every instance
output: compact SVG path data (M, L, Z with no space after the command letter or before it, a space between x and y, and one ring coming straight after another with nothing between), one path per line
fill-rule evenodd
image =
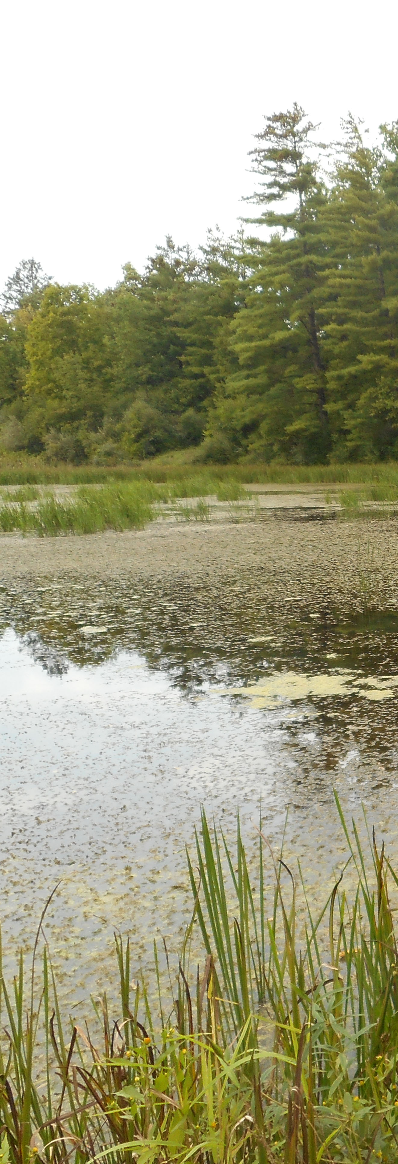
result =
M3 0L0 286L34 256L114 284L166 233L230 233L262 115L398 118L397 0Z

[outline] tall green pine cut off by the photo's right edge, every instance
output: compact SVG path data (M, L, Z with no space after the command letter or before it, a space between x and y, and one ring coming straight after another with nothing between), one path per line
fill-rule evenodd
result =
M334 456L396 456L397 140L385 127L384 149L370 149L353 118L344 128L343 157L321 214L324 242L334 255L324 315Z

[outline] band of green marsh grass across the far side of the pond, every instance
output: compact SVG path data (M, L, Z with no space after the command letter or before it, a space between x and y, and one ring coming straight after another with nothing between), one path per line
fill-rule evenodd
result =
M294 489L294 487L292 487ZM317 508L319 517L391 518L398 509L398 485L379 483L349 490L322 489L314 494L301 483L299 492L283 495L287 511ZM234 476L189 475L163 484L145 477L93 484L3 485L0 488L0 533L21 532L55 537L143 530L154 519L177 521L247 521L272 514L280 504L266 484L242 484ZM369 563L368 563L369 566ZM369 569L368 569L369 573Z

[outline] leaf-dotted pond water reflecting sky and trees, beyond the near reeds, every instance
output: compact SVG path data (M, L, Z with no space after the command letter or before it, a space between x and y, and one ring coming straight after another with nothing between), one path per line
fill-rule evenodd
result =
M190 917L200 805L264 830L325 887L344 859L333 788L397 842L398 610L269 596L261 569L190 584L65 575L0 590L6 973L45 935L67 1006L133 973Z

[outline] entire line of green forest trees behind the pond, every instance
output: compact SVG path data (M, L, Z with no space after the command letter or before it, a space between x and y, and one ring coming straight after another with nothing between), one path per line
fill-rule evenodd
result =
M266 116L251 217L197 254L168 239L101 293L22 262L2 296L1 448L398 459L398 121L375 147L351 116L341 142L317 139L297 105Z

